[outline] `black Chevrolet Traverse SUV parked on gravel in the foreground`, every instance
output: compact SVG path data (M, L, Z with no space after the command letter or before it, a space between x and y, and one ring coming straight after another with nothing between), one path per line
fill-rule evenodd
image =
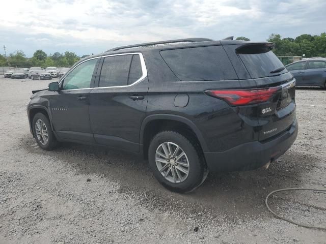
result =
M31 133L46 150L70 141L143 154L176 192L208 170L268 166L297 135L295 79L273 46L192 38L89 56L33 91Z

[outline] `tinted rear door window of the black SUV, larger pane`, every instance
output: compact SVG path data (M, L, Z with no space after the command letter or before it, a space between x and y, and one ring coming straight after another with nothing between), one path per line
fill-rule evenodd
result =
M105 57L99 86L106 87L127 85L131 58L132 55Z

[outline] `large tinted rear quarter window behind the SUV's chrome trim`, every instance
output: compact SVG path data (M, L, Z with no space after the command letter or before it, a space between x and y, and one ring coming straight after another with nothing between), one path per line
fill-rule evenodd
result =
M164 50L160 54L182 81L237 79L222 46Z

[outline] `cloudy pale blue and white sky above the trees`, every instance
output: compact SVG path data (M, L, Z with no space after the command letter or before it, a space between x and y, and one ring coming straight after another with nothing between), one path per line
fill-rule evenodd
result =
M0 45L77 55L150 41L326 31L325 0L3 0ZM4 50L0 49L3 54Z

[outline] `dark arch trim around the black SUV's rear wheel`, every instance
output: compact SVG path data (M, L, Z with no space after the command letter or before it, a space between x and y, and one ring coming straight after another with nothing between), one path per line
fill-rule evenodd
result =
M149 146L149 141L152 138L149 136L149 134L153 135L151 129L158 130L158 128L155 127L156 123L164 123L169 121L169 123L175 123L177 125L185 125L183 129L190 130L192 134L196 137L198 140L201 148L203 151L208 151L207 144L202 136L202 133L199 131L197 126L188 118L185 118L180 115L174 115L174 114L153 114L147 116L142 123L141 130L140 130L140 144L143 147L143 154L144 158L147 158L147 150ZM154 127L153 127L154 126ZM164 128L164 126L162 126Z

